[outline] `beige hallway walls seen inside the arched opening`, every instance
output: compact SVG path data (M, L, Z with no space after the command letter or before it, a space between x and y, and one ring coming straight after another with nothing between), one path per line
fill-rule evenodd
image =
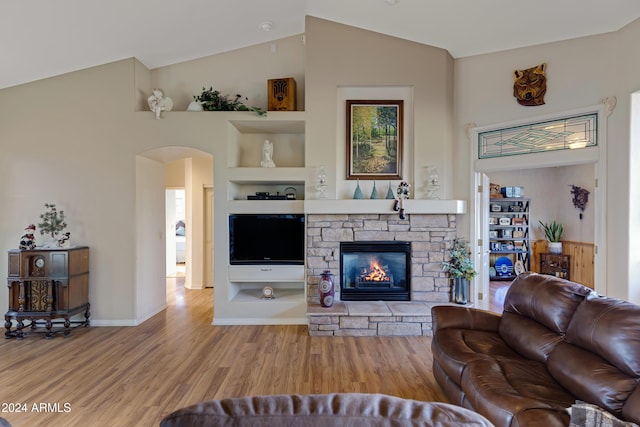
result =
M166 307L166 188L167 165L182 164L185 189L185 287L203 289L212 277L213 156L189 147L162 147L136 156L136 321L142 322ZM180 169L180 168L179 168ZM172 170L171 173L175 173ZM209 212L209 213L207 213ZM211 257L206 260L205 257Z

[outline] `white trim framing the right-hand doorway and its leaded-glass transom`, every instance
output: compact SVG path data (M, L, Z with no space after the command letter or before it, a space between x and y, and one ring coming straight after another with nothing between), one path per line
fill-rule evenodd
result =
M610 99L610 98L607 98ZM510 171L521 169L535 169L556 166L572 166L580 164L594 165L594 286L597 292L606 294L606 178L607 178L607 117L612 109L606 108L608 104L599 104L591 107L563 111L545 116L529 117L508 123L499 123L488 126L477 127L469 125L469 139L471 144L471 197L469 219L469 229L472 249L474 250L474 260L478 275L472 284L474 300L479 302L483 309L489 309L489 224L488 221L481 221L488 212L489 188L488 185L481 185L486 181L486 173L497 171ZM514 155L509 157L509 162L501 158L478 159L478 135L482 132L500 130L514 126L523 126L540 121L557 120L569 116L596 113L598 116L597 138L598 145L577 150L562 150L550 153L532 153ZM482 298L480 298L480 295Z

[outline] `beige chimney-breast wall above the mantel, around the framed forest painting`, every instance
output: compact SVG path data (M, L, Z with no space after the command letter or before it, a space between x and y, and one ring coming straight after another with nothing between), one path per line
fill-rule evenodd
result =
M427 164L441 174L442 198L454 198L453 58L444 49L308 16L306 19L306 165L323 164L328 197L349 198L346 177L345 100L351 96L404 99L403 179L423 194ZM361 99L362 99L361 98ZM405 128L406 129L406 128ZM397 184L397 182L396 182ZM378 182L378 190L387 188ZM364 183L370 194L372 183ZM395 187L395 186L394 186Z

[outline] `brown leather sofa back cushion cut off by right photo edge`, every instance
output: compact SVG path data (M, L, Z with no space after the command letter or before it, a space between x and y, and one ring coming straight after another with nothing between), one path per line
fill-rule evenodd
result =
M547 364L556 381L582 400L640 422L640 407L627 405L640 381L640 306L591 294L565 341Z

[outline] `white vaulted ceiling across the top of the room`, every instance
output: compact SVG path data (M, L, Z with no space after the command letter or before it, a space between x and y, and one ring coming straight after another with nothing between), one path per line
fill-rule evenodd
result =
M0 88L136 57L153 69L304 33L305 15L454 58L619 30L638 0L0 0Z

